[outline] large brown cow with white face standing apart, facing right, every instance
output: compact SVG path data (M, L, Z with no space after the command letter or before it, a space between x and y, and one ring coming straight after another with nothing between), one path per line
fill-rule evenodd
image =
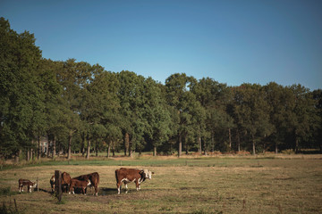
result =
M135 182L137 191L140 190L140 184L145 181L147 178L151 179L154 172L148 171L148 169L116 169L115 178L116 178L116 187L117 192L121 193L122 183L125 185L126 190L128 189L127 184L130 182Z

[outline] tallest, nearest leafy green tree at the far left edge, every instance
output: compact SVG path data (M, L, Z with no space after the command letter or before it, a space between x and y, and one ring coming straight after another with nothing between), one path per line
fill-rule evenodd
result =
M41 70L41 51L33 34L17 34L0 18L0 45L1 155L19 157L21 148L32 148L32 139L44 131L44 90L55 82Z

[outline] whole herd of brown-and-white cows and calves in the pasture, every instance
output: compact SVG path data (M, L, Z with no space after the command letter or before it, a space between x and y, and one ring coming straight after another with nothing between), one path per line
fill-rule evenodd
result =
M151 179L154 172L148 171L148 169L127 169L121 168L115 170L116 178L116 187L117 193L121 193L122 183L125 185L125 188L128 189L127 184L135 182L136 189L140 190L140 184L145 181L147 178ZM71 177L67 172L62 173L61 185L64 192L75 193L75 188L80 188L83 194L86 194L87 187L95 188L95 195L98 194L98 184L99 184L99 175L97 172L93 172L87 175L82 175L79 177ZM27 179L19 179L19 192L23 192L23 186L27 186L28 192L31 193L31 188L36 187L35 182L31 182ZM52 192L55 191L55 176L50 178L50 185Z

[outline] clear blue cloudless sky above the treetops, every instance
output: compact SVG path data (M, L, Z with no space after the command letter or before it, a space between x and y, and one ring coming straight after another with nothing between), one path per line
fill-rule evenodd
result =
M322 88L322 0L0 0L0 16L55 61Z

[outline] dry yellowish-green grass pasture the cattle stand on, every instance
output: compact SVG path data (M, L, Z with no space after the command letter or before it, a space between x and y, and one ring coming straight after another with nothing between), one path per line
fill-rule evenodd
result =
M128 193L118 195L114 170L121 165L155 174L139 192L130 184ZM98 197L94 190L88 195L64 193L63 202L57 203L49 185L55 169L72 177L97 171ZM17 193L19 178L36 177L39 192ZM59 161L3 169L0 181L0 202L14 211L15 200L20 213L322 212L322 155Z

